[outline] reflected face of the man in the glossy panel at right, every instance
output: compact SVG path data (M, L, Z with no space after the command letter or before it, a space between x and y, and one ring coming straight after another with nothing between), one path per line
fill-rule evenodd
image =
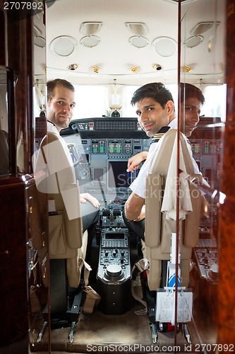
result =
M190 97L181 103L181 132L190 137L198 125L201 103L197 98Z

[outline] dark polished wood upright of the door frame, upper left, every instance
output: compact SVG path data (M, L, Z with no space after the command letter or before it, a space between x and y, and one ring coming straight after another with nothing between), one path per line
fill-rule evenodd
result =
M12 173L32 173L31 161L34 153L32 16L20 18L20 11L19 18L16 18L15 12L12 16L15 17L8 21L7 31L11 84L14 81L14 86L10 91L10 102L11 105L15 105L14 112L9 117L10 170ZM16 161L17 150L18 152L20 150L18 161Z

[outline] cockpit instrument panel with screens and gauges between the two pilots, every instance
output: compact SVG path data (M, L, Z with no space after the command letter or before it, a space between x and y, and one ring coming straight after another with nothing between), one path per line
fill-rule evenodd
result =
M113 137L106 135L104 132L104 137L86 135L84 138L80 132L64 137L71 152L80 192L91 193L102 206L128 198L131 193L129 186L138 176L138 171L126 172L128 159L138 152L147 151L151 141L146 135L144 138L116 138L115 132L112 132Z

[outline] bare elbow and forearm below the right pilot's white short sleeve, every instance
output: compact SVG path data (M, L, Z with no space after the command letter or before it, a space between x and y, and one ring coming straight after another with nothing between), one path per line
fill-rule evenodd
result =
M145 199L131 193L125 204L125 215L130 221L140 221L145 218Z

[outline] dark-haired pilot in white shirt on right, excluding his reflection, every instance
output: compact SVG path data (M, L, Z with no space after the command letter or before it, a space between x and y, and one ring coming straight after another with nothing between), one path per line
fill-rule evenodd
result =
M148 137L152 137L145 164L138 177L131 183L132 193L126 200L123 219L129 229L144 239L145 229L145 181L150 169L152 157L156 154L160 136L171 128L177 127L174 101L170 91L162 82L153 82L141 86L133 94L131 104L135 105L138 122ZM129 169L131 171L131 169Z

